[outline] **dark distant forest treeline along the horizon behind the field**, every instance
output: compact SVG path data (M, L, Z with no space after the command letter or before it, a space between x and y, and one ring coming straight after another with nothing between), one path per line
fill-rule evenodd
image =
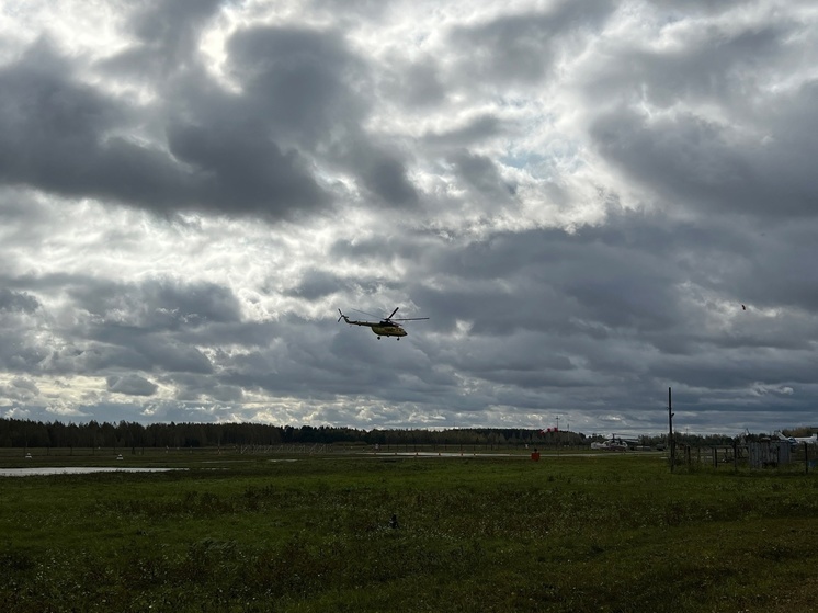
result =
M0 447L230 447L279 444L360 445L541 445L581 446L601 435L521 428L458 428L452 430L356 430L321 425L272 425L265 423L150 423L89 421L42 422L0 419ZM663 436L639 436L651 445ZM689 444L726 444L729 436L680 435Z

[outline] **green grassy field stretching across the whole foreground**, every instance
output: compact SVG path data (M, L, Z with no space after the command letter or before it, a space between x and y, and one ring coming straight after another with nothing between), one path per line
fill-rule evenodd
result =
M652 454L52 451L2 466L0 611L815 611L818 478ZM390 526L393 515L397 527Z

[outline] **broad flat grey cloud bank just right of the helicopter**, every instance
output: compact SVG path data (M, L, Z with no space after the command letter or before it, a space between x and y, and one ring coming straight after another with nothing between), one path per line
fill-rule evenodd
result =
M713 393L753 381L803 386L811 357L779 353L809 351L809 343L791 336L780 317L748 318L736 299L743 284L761 290L769 274L738 254L758 247L741 245L743 236L740 227L633 214L575 235L497 236L463 253L441 251L434 268L446 282L436 283L439 292L419 284L412 295L435 333L466 326L456 354L436 348L434 361L543 394L571 387L570 398L559 393L568 404L597 395L618 411L679 382ZM787 311L786 295L768 300L768 308ZM815 318L787 313L792 330L815 333ZM773 362L779 367L769 367Z

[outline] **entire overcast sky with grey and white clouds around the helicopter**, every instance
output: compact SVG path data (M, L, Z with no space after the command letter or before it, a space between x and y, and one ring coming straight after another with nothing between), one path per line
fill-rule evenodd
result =
M5 0L0 416L818 425L816 160L814 0Z

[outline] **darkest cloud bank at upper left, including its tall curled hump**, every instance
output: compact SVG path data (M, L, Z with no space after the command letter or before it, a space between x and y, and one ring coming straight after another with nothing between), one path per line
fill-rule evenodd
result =
M161 21L159 8L168 10L151 3L135 25L138 32ZM178 18L182 9L172 13ZM204 8L181 38L195 37L208 14ZM100 68L122 79L123 65L139 64L138 57L180 64L179 54L194 53L191 41L170 49L170 39L147 36L137 50ZM417 204L406 156L362 128L372 86L365 64L339 33L250 27L235 33L227 50L239 94L193 64L178 76L162 76L162 109L136 106L86 84L69 58L41 41L0 70L0 129L7 135L0 180L162 214L203 211L277 220L330 205L314 168L320 155L352 172L375 204ZM146 123L152 138L140 134Z

